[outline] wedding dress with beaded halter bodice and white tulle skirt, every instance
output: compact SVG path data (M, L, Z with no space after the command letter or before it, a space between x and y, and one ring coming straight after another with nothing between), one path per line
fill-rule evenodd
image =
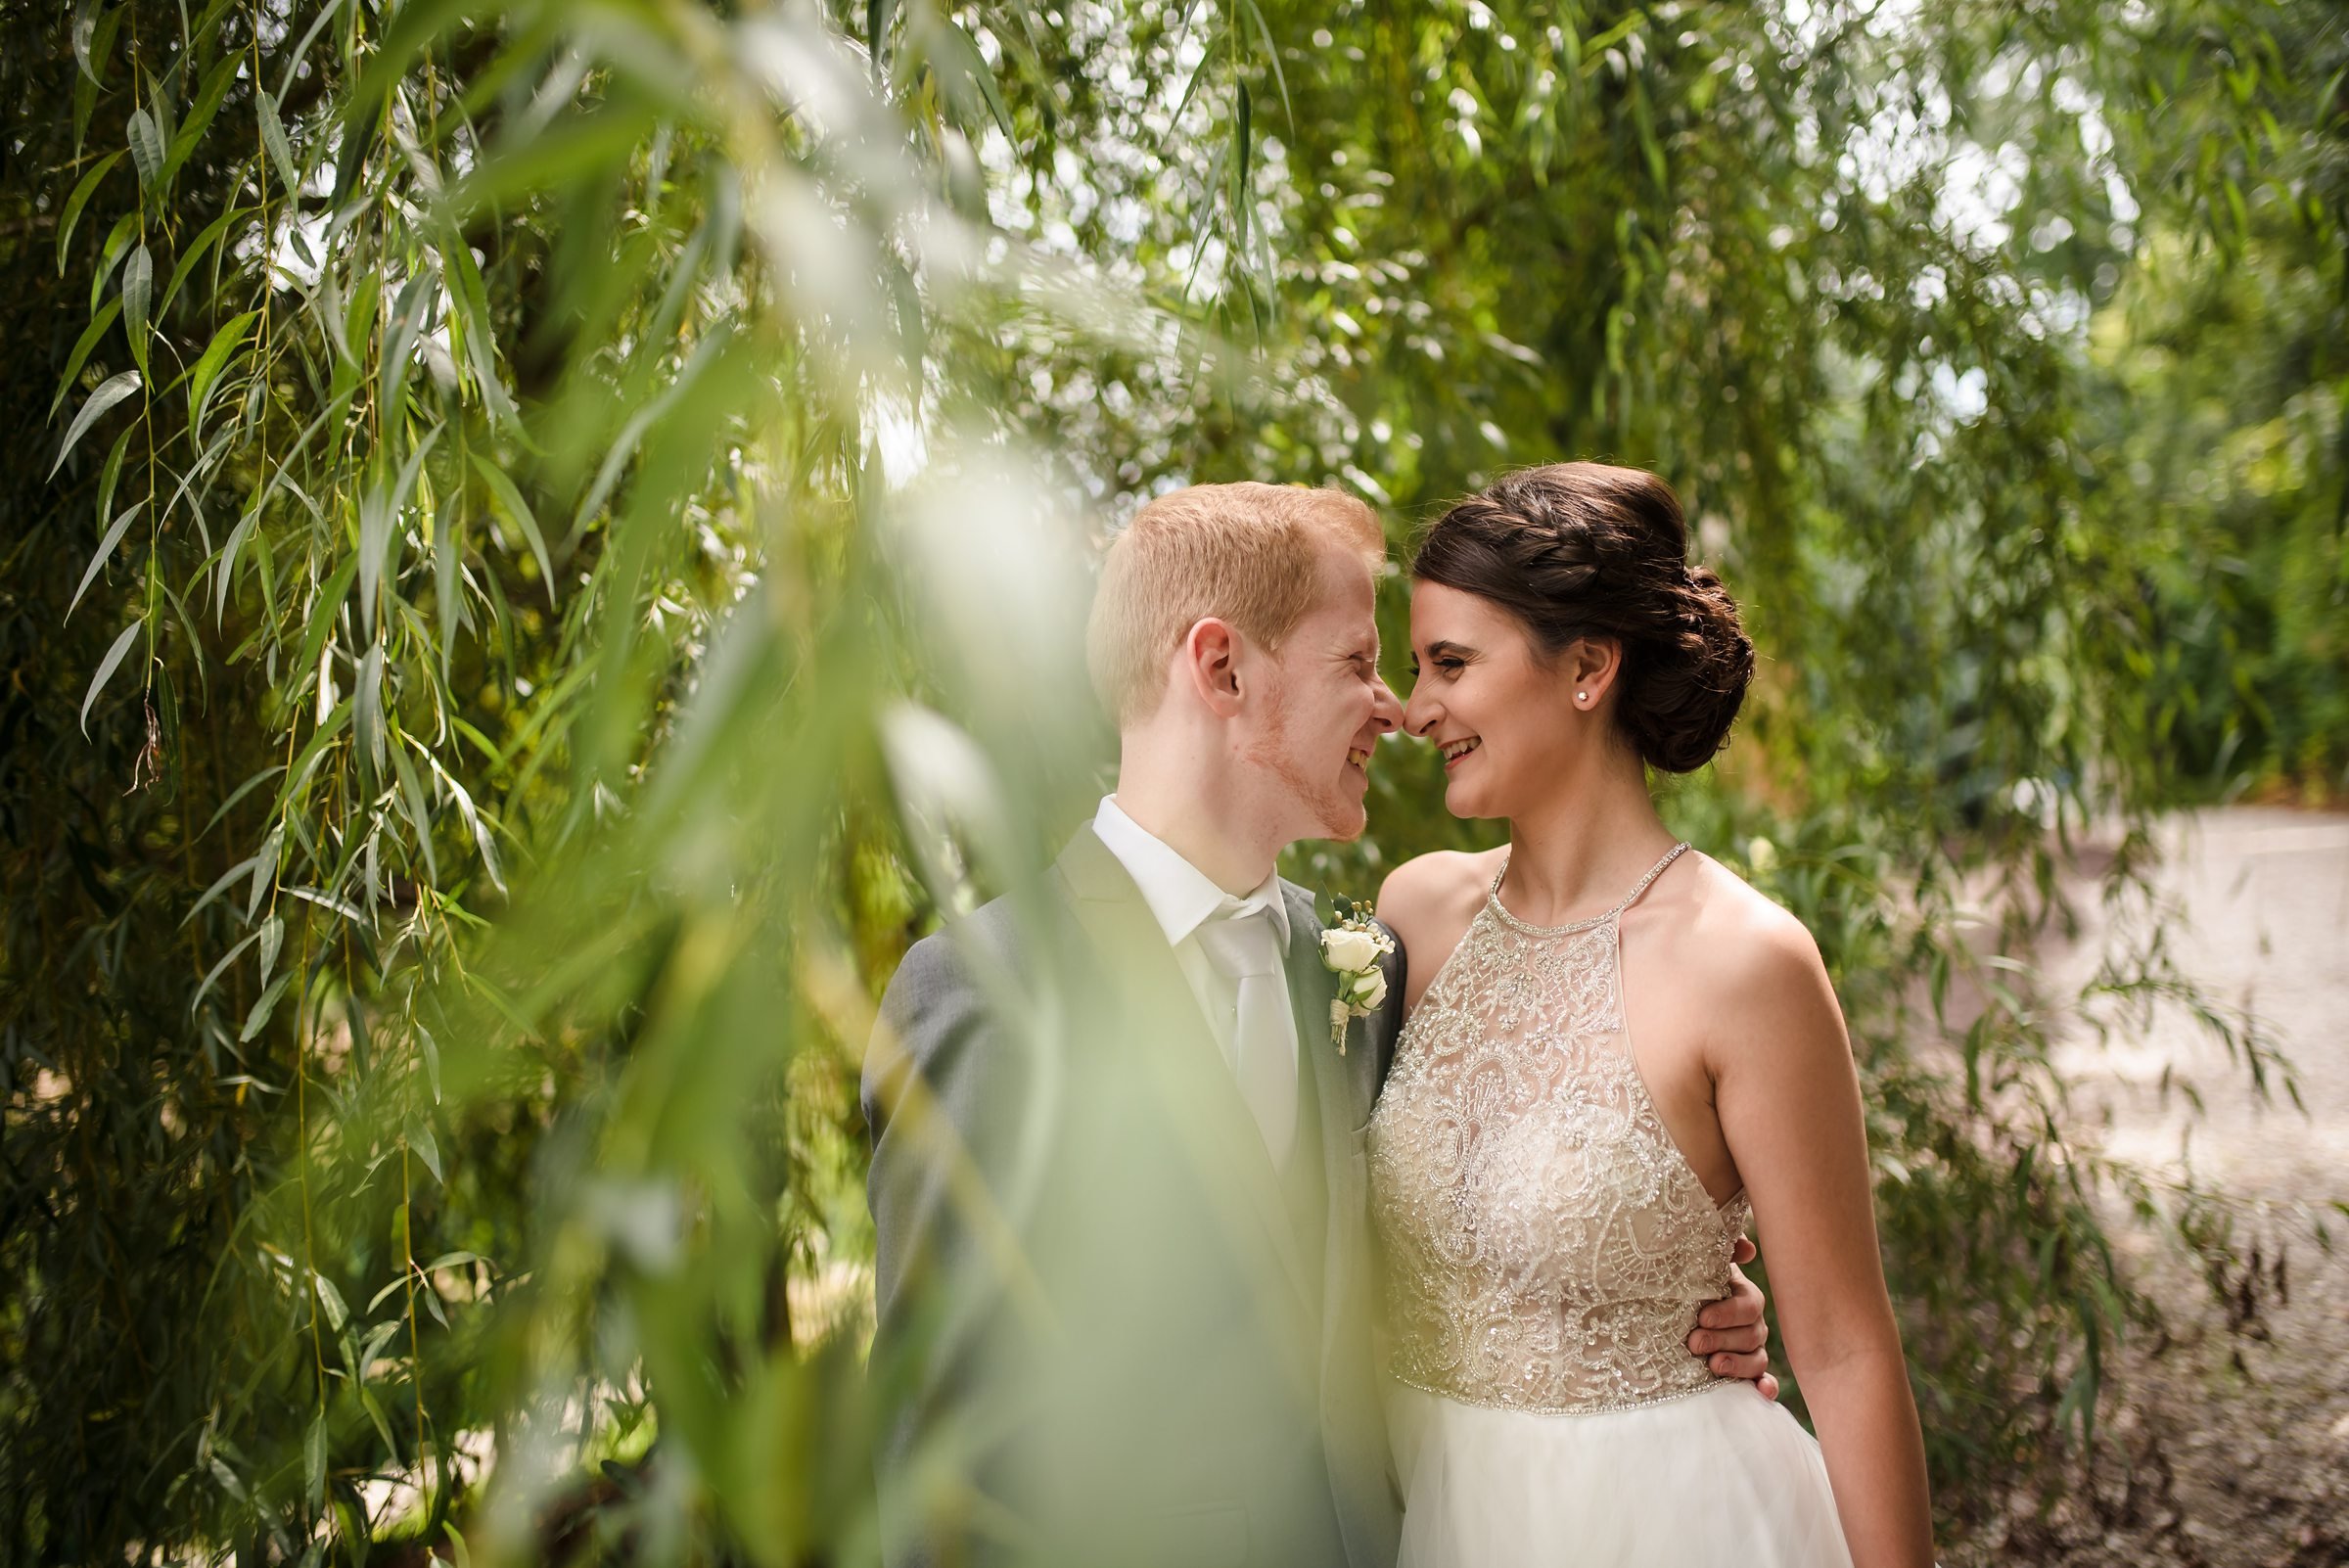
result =
M1618 920L1485 908L1402 1028L1369 1120L1400 1568L1849 1568L1828 1467L1689 1354L1729 1293L1715 1207L1623 1028ZM1506 869L1503 869L1506 871Z

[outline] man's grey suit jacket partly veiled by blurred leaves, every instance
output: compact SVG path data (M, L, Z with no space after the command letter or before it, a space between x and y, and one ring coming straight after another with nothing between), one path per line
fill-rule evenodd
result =
M1362 1129L1402 955L1339 1054L1283 897L1287 1178L1092 829L900 965L864 1066L890 1561L1393 1568Z

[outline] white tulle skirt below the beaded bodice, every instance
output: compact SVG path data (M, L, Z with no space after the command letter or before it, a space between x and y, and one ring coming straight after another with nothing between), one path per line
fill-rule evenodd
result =
M1750 1383L1536 1415L1388 1385L1398 1568L1851 1568L1818 1441Z

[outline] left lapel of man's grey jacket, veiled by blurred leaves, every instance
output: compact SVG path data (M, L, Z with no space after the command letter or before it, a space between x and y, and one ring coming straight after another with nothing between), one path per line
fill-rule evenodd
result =
M1297 1228L1290 1223L1287 1197L1280 1190L1280 1174L1273 1169L1264 1134L1257 1131L1257 1120L1214 1045L1198 998L1174 962L1165 932L1158 930L1158 920L1142 901L1125 866L1095 838L1090 826L1069 840L1059 857L1059 876L1069 885L1095 948L1120 972L1142 981L1146 1016L1182 1021L1172 1028L1151 1023L1132 1033L1144 1042L1146 1066L1172 1106L1174 1127L1191 1148L1203 1183L1226 1207L1229 1218L1271 1244L1280 1277L1287 1282L1290 1307L1301 1312L1311 1291ZM1290 967L1294 995L1294 958Z

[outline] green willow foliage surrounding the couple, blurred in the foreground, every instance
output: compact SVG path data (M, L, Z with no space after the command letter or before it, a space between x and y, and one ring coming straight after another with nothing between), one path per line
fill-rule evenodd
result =
M2344 59L2314 0L7 7L5 1559L869 1556L855 1059L1095 789L1083 535L1557 455L1750 608L1672 812L1835 967L1987 1549L2147 1310L2098 1188L2210 1235L2060 1127L2051 1033L2180 986L2147 925L2034 988L2058 857L2119 819L2128 897L2145 812L2349 765ZM1294 871L1482 831L1395 744Z

